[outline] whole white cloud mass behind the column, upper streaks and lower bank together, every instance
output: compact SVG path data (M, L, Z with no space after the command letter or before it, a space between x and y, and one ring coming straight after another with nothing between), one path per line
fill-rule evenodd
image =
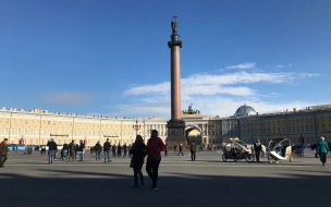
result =
M245 63L246 64L246 63ZM244 64L242 64L244 65ZM237 65L236 65L237 66ZM249 65L246 65L249 68ZM255 63L250 64L254 68ZM243 66L242 66L243 68ZM257 112L277 112L304 108L314 102L284 101L279 102L282 96L278 92L259 94L253 84L284 84L297 83L298 80L317 76L312 73L265 73L260 71L235 72L225 74L193 74L182 78L182 109L194 104L194 108L206 115L233 115L244 102L254 107ZM263 87L263 86L262 86ZM277 90L277 87L273 87ZM170 82L159 84L132 85L123 97L136 97L133 105L112 106L118 114L140 117L170 118ZM268 101L267 101L268 100Z

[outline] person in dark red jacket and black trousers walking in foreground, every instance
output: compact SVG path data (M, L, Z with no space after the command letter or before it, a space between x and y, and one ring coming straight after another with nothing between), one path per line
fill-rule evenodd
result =
M161 151L164 147L166 145L159 137L159 132L157 130L152 130L150 138L147 142L146 172L152 181L151 187L154 190L158 190L158 171L161 161Z

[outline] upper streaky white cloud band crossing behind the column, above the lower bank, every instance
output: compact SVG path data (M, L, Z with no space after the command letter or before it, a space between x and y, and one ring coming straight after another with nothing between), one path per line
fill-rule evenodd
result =
M254 84L254 83L291 83L294 80L311 77L317 74L310 73L261 73L261 72L237 72L220 75L193 74L182 78L182 95L217 95L229 94L233 96L257 95L255 89L249 87L225 87L224 85ZM170 94L170 82L154 85L133 86L123 93L125 96L157 95L166 96Z

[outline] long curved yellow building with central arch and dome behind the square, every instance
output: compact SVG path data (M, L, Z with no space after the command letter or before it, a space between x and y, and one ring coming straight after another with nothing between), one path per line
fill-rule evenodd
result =
M260 138L268 143L272 138L287 137L293 143L304 141L316 143L320 136L331 139L331 105L310 106L305 109L285 109L277 113L259 114L250 106L241 106L232 117L207 117L192 109L182 111L185 121L185 136L203 145L220 145L223 141L238 137L247 143ZM82 115L77 113L52 113L48 110L25 111L16 108L0 109L0 138L9 143L27 145L47 144L54 137L58 144L74 139L86 141L87 146L107 138L114 144L131 144L136 134L145 141L151 130L158 130L166 142L164 118L124 118L105 115ZM329 141L330 142L330 141Z

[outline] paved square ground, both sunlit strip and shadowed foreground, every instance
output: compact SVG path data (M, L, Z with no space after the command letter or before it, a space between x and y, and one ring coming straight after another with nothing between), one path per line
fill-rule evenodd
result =
M131 188L133 172L128 158L96 161L88 151L84 161L57 160L49 166L47 156L9 154L0 169L0 205L8 206L317 206L328 205L331 165L321 167L307 151L294 162L269 165L244 160L221 161L221 151L162 157L159 188L145 185ZM330 158L329 158L330 159Z

